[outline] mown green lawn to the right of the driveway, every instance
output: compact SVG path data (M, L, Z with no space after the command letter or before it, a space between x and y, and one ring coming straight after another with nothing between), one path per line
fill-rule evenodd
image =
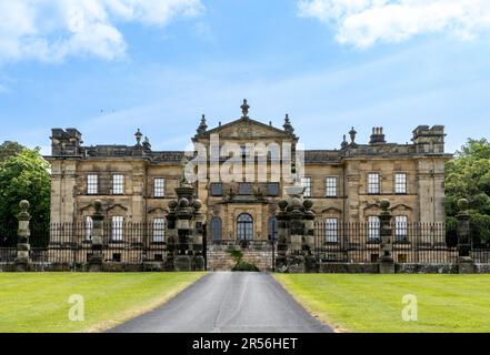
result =
M276 275L308 311L339 332L490 332L490 275ZM418 300L404 322L403 295Z

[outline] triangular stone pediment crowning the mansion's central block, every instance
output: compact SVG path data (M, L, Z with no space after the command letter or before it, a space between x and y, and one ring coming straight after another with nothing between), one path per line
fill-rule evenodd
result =
M259 121L242 118L230 123L217 126L199 134L199 138L209 138L211 134L219 134L220 139L263 139L263 138L294 138L294 134L274 128Z

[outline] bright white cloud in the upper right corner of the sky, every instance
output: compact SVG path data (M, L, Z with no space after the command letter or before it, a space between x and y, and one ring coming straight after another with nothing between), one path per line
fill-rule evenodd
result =
M299 0L300 16L333 24L342 44L369 48L417 34L461 40L490 31L489 0Z

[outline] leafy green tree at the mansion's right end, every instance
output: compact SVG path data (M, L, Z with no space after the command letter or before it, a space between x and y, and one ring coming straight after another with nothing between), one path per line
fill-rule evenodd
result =
M446 213L454 223L458 200L470 202L473 243L490 243L490 142L468 140L446 165Z

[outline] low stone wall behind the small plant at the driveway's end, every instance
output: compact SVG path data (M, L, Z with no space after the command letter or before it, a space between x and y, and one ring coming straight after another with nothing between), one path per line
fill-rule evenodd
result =
M272 252L270 250L242 250L243 262L259 267L260 271L272 271ZM230 271L234 261L226 250L208 251L208 271Z

